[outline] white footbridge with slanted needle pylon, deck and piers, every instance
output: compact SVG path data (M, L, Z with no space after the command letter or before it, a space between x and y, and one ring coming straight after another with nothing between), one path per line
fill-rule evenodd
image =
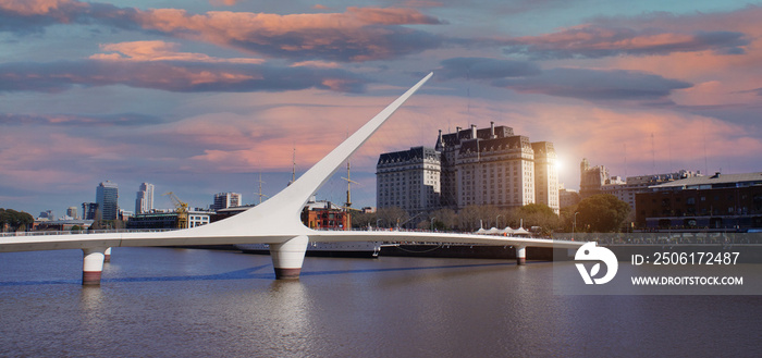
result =
M84 252L83 284L89 285L100 284L105 254L110 247L270 244L275 277L298 279L305 251L310 242L384 240L512 245L516 247L519 264L526 260L524 252L527 246L555 248L581 246L583 243L579 242L475 234L315 231L302 223L299 219L302 209L309 197L432 75L433 73L429 73L410 87L290 186L269 200L237 215L204 226L171 232L3 237L0 238L0 252L82 249Z

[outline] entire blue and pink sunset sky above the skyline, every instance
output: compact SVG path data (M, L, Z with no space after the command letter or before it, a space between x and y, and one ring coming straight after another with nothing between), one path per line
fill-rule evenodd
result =
M0 0L0 208L82 211L107 180L130 211L143 182L256 202L431 71L353 156L355 207L379 153L490 121L552 141L568 188L582 158L762 171L759 2Z

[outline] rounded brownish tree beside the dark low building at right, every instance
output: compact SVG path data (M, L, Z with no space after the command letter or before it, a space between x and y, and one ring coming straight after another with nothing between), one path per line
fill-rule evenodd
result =
M577 231L610 233L618 232L630 208L627 202L611 194L587 197L577 205Z

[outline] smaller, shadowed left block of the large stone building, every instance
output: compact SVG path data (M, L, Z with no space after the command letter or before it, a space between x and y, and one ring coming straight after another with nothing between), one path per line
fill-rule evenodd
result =
M377 207L398 207L411 214L438 208L440 171L440 153L433 148L382 153L376 164Z

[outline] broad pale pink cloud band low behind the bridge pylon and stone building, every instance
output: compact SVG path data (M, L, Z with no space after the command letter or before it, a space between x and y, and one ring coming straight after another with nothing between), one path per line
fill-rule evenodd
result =
M167 124L120 127L102 132L101 139L82 132L91 127L86 123L58 137L50 133L63 127L22 131L4 125L10 140L0 144L0 165L5 169L0 176L9 183L27 180L45 184L45 178L32 177L36 171L73 181L81 173L89 173L89 178L78 181L89 181L87 189L91 189L91 183L102 181L109 170L174 174L287 172L294 146L297 170L302 172L393 99L394 96L327 96L318 90L228 94L217 96L216 109L198 104L208 114ZM568 168L562 176L567 187L574 187L578 180L575 168L583 157L605 164L612 174L624 175L624 146L629 175L649 173L652 134L659 169L664 171L703 170L704 144L710 163L723 162L723 166L725 159L732 157L759 163L755 153L762 151L758 129L700 115L477 98L470 99L466 110L466 101L426 94L414 96L353 156L353 168L372 172L381 152L433 146L438 129L447 133L471 123L486 127L489 121L512 126L516 134L532 141L554 143ZM132 157L150 160L135 162ZM675 166L666 168L673 158Z

